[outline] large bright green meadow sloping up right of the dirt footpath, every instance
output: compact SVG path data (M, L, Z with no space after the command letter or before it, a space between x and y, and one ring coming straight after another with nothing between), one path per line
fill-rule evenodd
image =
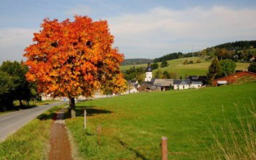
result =
M241 108L256 103L256 83L137 93L78 104L78 118L66 120L76 140L80 156L86 159L160 159L160 138L168 137L172 159L211 159L214 144L208 131L236 119L234 103ZM88 129L83 130L83 110L88 112ZM241 109L243 110L243 109ZM242 112L242 115L245 113ZM96 127L102 125L101 146ZM182 153L177 153L182 152Z

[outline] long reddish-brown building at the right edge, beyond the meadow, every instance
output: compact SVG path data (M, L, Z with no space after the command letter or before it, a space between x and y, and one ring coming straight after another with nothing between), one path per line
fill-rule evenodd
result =
M214 81L212 81L212 85L220 86L222 84L233 84L245 76L252 76L252 77L256 78L256 73L248 72L248 71L244 70L242 72L237 72L237 73L225 76L225 77L215 79Z

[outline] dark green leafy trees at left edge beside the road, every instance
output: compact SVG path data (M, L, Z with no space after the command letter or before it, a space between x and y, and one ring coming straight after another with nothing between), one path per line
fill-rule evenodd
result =
M40 99L36 92L36 84L26 80L28 67L23 62L3 62L0 66L0 111L14 109L14 100L22 107L22 100Z

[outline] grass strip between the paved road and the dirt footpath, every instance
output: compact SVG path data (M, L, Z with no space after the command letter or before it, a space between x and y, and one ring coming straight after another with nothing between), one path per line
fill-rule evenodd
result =
M1 142L0 160L46 160L52 118L64 106L50 108Z

